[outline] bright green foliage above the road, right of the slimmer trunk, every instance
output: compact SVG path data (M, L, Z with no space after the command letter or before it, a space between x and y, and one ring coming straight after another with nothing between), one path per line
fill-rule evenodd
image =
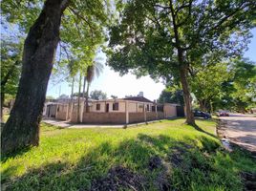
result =
M255 64L245 58L206 65L191 76L191 87L203 111L253 107Z

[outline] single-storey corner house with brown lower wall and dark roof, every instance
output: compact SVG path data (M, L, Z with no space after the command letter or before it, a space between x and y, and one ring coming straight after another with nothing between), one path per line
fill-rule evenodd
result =
M77 105L77 99L73 102L50 103L46 106L45 116L89 124L128 124L177 117L177 104L157 104L144 96L90 100L89 112L86 112L85 100L81 98L78 117Z

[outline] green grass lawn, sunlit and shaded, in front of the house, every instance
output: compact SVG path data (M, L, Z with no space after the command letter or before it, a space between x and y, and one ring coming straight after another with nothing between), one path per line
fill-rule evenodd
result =
M144 190L160 190L158 178L167 166L171 190L243 190L239 173L255 172L255 160L241 150L224 152L214 121L197 121L207 134L183 122L128 129L58 129L43 123L40 146L2 157L2 189L90 190L94 180L122 166L144 178ZM154 156L165 167L149 169Z

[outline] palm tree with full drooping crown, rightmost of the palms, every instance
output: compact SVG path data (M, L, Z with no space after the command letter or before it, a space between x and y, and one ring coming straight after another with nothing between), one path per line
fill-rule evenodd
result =
M89 105L88 105L88 96L89 96L89 87L94 80L95 76L99 76L100 73L103 72L103 65L100 62L94 61L91 66L87 67L86 71L86 79L87 79L87 90L86 90L86 112L89 112ZM84 87L85 87L85 81L84 81ZM83 93L84 94L84 93Z

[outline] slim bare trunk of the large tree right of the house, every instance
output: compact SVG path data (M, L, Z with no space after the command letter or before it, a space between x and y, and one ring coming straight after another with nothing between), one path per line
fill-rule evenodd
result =
M192 112L192 98L190 96L189 86L187 82L187 69L185 66L182 66L180 69L180 75L181 75L181 86L183 90L183 97L184 97L184 103L185 103L185 112L186 112L186 123L189 125L195 126L195 118L194 114Z

